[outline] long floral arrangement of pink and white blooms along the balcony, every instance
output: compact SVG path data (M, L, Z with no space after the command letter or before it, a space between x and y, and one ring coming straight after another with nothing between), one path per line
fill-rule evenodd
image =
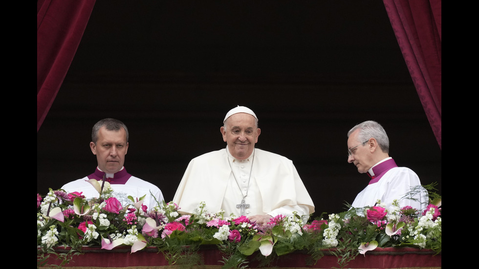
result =
M251 223L245 216L211 213L199 203L191 215L180 215L173 202L157 201L143 206L144 197L129 197L131 204L121 205L111 197L108 182L90 181L99 198L86 199L82 193L62 189L37 194L37 265L57 255L66 264L82 247L113 249L131 246L131 252L156 247L170 264L199 265L197 249L217 246L223 268L245 268L248 258L272 257L297 250L310 254L314 264L326 252L338 256L346 266L357 255L374 248L414 246L441 252L440 197L431 199L423 212L412 207L390 208L379 203L369 208L351 208L327 219L309 222L300 216L276 216L266 225ZM434 196L434 194L433 194ZM57 253L58 247L70 247ZM187 246L187 247L186 247Z

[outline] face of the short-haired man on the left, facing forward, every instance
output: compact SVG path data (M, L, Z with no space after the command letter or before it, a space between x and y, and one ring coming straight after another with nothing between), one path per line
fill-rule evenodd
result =
M98 167L106 173L118 172L125 163L128 151L127 134L125 129L109 131L102 127L98 131L98 141L90 142L91 152L96 155Z

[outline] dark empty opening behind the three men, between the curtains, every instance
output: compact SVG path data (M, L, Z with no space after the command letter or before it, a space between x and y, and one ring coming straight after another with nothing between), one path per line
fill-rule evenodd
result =
M37 191L92 173L91 127L111 117L130 131L128 171L170 201L192 158L226 146L236 105L258 115L257 147L293 160L315 216L368 184L346 145L365 120L441 193L441 149L378 0L97 1L37 133Z

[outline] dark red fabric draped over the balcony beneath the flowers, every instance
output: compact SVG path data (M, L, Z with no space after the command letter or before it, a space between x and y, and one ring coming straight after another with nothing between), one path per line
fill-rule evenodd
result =
M61 248L58 248L61 249ZM75 255L73 260L65 267L89 268L108 267L115 268L170 268L168 261L156 248L150 247L144 250L130 253L131 247L117 247L112 250L99 248L84 248L85 253ZM204 265L208 268L221 268L222 256L216 246L207 247L198 251L204 259ZM306 260L308 254L292 253L279 257L273 267L277 268L334 268L338 266L338 257L324 252L325 256L318 262L309 266ZM435 252L428 249L418 248L376 248L366 252L365 255L358 255L348 263L348 268L441 268L442 255L434 255ZM59 265L60 262L51 258L49 265ZM250 268L259 268L257 261L248 263Z

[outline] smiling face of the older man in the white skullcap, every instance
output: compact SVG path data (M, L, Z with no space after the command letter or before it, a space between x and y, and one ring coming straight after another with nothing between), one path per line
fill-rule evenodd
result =
M231 115L226 120L226 130L221 127L223 141L228 145L231 155L238 160L245 160L253 153L260 132L255 117L247 113Z

